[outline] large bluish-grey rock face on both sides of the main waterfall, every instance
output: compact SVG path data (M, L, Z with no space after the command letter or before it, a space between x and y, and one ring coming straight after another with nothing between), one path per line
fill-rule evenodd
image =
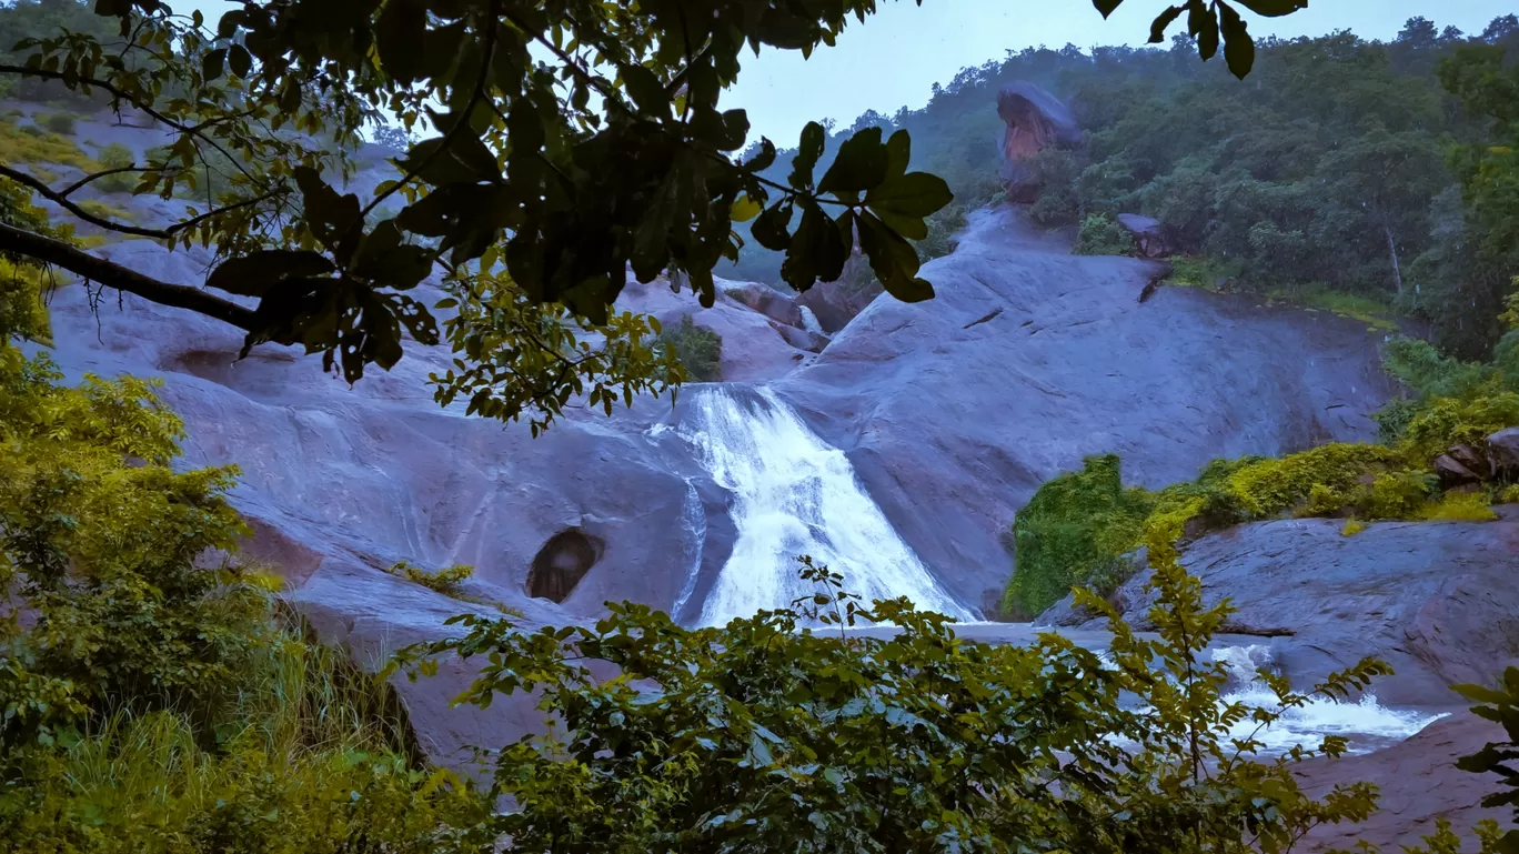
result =
M208 261L141 242L102 252L187 284ZM1004 210L977 216L954 255L925 266L937 299L878 299L819 356L776 331L784 305L723 295L700 310L661 280L629 286L620 307L665 322L691 312L723 334L728 377L767 381L843 450L974 611L1007 580L1000 535L1013 512L1082 454L1120 451L1156 485L1215 456L1373 433L1366 413L1384 383L1356 324L1168 289L1139 305L1148 269L1074 258ZM292 350L237 362L235 330L131 296L97 316L67 286L52 307L55 359L71 375L164 377L187 462L242 467L232 500L254 523L251 552L276 561L289 599L362 663L444 637L442 622L472 608L384 571L401 559L474 564L471 593L523 609L532 628L597 615L608 599L690 618L732 552L734 494L681 436L691 391L674 409L577 410L530 439L433 403L442 348L410 346L393 371L349 387ZM434 757L457 763L468 745L542 723L527 701L450 710L469 678L450 664L398 684Z

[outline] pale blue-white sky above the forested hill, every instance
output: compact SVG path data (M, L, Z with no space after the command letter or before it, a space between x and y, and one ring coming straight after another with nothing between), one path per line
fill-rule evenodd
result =
M794 50L758 58L744 53L743 74L725 108L747 109L755 134L788 147L807 122L835 119L849 125L866 109L890 115L901 106L919 108L936 82L948 84L960 68L1001 59L1007 50L1066 43L1082 49L1144 44L1150 21L1167 5L1126 0L1104 21L1091 0L922 0L922 6L883 0L864 24L855 23L835 47L822 47L811 59L804 61ZM231 3L202 0L199 8L214 21ZM1350 29L1364 38L1387 40L1416 15L1440 29L1481 32L1493 18L1514 11L1514 0L1312 0L1308 9L1284 18L1249 12L1246 18L1258 36ZM1177 21L1170 32L1182 29Z

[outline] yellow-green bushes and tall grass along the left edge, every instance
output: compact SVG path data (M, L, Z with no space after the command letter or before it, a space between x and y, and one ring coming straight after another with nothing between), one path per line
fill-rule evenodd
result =
M0 272L0 848L482 852L489 802L419 764L389 687L208 559L234 470L173 468L152 383L23 356L39 278Z

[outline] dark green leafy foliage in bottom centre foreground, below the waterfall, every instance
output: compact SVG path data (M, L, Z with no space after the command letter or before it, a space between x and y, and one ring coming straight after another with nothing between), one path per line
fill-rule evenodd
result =
M413 673L478 661L460 702L536 691L561 722L497 755L492 793L515 808L489 827L524 849L1274 852L1364 818L1370 786L1314 801L1291 772L1341 739L1256 755L1259 726L1308 697L1264 675L1276 707L1221 702L1203 652L1229 608L1202 608L1159 536L1161 640L1115 618L1110 664L1057 635L966 643L907 600L866 606L805 558L813 597L722 629L632 603L535 634L460 617L463 637L403 658ZM848 631L876 620L898 631ZM1315 693L1378 673L1364 661Z

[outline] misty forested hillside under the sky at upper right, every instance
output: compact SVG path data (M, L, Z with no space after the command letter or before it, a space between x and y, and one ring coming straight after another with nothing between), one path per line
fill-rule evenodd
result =
M829 153L860 128L908 129L914 166L957 196L921 245L943 254L965 210L998 199L998 90L1031 81L1085 129L1080 146L1039 155L1036 222L1100 234L1116 213L1154 216L1194 255L1177 264L1191 284L1356 298L1483 356L1519 270L1516 52L1514 15L1476 35L1413 18L1390 43L1267 40L1244 84L1198 62L1186 36L1168 50L1027 49L936 84L922 109L837 123ZM728 275L776 281L778 255L749 249Z

